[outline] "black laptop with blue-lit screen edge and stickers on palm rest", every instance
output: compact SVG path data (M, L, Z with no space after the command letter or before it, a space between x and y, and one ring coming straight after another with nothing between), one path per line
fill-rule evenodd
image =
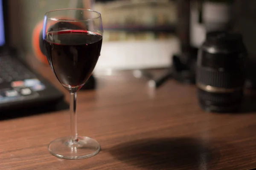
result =
M0 111L54 105L64 95L8 44L7 0L0 0Z

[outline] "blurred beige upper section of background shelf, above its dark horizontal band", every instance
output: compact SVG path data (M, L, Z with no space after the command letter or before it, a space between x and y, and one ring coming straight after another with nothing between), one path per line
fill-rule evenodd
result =
M177 5L169 0L95 1L106 31L175 33Z

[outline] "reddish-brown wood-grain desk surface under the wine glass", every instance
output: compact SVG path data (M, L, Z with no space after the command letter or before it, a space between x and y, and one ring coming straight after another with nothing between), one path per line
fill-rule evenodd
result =
M67 94L48 67L38 68ZM171 80L155 93L129 73L98 80L97 91L78 93L78 131L101 144L98 155L65 160L49 154L47 144L70 132L69 112L59 111L0 122L0 170L256 167L255 113L204 113L195 87Z

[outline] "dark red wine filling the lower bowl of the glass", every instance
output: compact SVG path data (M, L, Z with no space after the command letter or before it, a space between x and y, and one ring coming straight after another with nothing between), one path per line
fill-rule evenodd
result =
M98 61L102 35L85 30L61 30L46 34L44 45L56 77L67 90L77 91Z

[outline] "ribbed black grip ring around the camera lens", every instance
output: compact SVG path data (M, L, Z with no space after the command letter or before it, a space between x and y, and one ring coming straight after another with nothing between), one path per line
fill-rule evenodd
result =
M217 88L237 88L244 85L244 72L217 71L201 66L197 67L196 81Z

